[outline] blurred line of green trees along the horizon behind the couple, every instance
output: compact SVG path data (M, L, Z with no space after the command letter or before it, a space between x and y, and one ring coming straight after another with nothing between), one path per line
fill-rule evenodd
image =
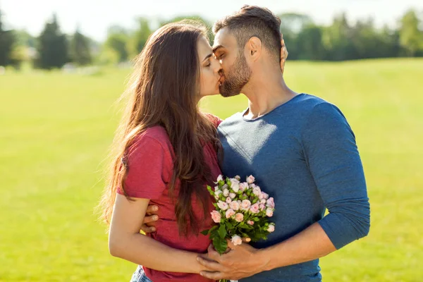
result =
M134 29L109 27L104 42L95 42L77 27L73 35L61 32L56 15L37 36L25 30L6 30L0 10L0 66L15 66L28 61L35 68L61 68L66 63L77 66L116 64L133 59L142 51L149 35L166 23L190 18L211 26L199 16L180 16L161 21L156 28L147 18L137 18ZM422 13L410 10L396 27L376 28L372 18L351 24L345 14L333 18L331 25L317 25L309 16L283 13L281 32L291 60L345 61L355 59L423 56ZM213 41L212 32L210 40Z

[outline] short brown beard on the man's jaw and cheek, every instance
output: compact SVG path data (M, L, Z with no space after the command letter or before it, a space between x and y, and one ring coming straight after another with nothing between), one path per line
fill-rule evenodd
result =
M223 73L225 79L219 87L223 97L232 97L240 94L243 87L250 81L251 70L247 65L244 54L239 54L238 58L229 71Z

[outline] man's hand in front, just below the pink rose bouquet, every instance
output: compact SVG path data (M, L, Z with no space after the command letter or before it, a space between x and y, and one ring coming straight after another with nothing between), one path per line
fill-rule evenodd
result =
M207 255L197 257L198 262L212 271L201 271L200 274L209 279L238 280L262 272L266 265L266 259L262 257L260 250L251 247L247 243L233 245L228 240L229 252L219 255L213 245L209 246Z

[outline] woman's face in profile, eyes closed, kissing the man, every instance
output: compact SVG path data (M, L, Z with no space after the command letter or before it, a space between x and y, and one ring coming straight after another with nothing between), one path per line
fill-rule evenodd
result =
M202 36L197 42L198 61L200 61L200 97L219 94L221 64L213 56L212 47Z

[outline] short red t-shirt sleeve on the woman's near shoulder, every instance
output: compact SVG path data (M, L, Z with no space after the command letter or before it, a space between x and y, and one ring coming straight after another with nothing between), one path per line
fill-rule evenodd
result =
M146 135L128 149L125 192L129 197L157 200L171 177L171 154L161 142ZM119 194L123 194L118 189Z

